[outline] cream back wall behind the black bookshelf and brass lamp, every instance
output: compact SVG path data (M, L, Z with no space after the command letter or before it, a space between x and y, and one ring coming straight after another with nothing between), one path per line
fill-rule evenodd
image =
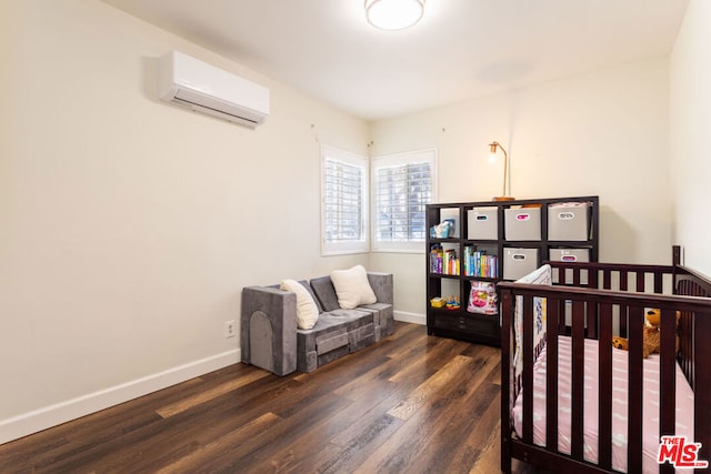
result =
M380 121L372 155L435 147L439 202L501 194L499 141L518 199L599 195L600 260L671 263L667 60L547 82ZM424 314L424 255L371 255L395 269L395 307Z

